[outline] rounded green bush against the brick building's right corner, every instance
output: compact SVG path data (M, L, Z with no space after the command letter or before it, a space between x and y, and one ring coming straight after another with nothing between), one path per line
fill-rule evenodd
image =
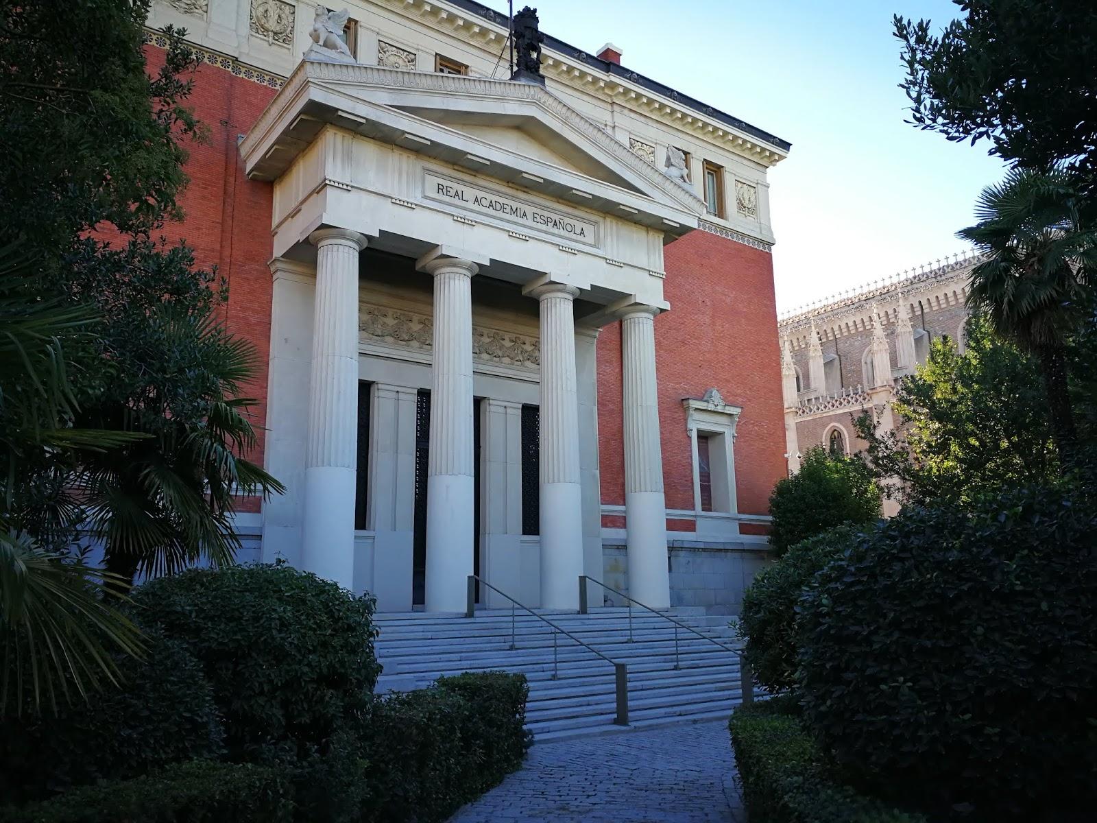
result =
M778 556L801 540L835 526L861 526L880 517L881 494L859 460L811 449L800 471L782 477L769 497L769 544Z

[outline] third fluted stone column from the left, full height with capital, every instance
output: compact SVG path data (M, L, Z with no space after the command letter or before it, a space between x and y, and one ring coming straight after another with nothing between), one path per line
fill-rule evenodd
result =
M541 303L541 606L579 608L583 486L575 373L574 301L579 290L546 283Z

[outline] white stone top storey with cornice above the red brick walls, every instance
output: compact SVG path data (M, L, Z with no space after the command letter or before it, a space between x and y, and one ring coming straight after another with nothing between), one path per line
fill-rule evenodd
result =
M256 1L208 0L203 21L182 12L178 0L160 0L154 3L149 24L185 25L190 40L216 50L210 63L220 65L223 57L240 64L241 70L234 74L274 86L291 74L309 44L313 4L270 0L280 4L280 10L295 7L290 45L284 30L279 30L278 36L265 30L253 31L249 21L271 19L269 9L265 16L255 18L250 4ZM507 19L478 3L350 0L346 7L357 23L354 45L361 64L430 74L436 56L442 55L466 63L471 76L506 75L506 67L500 69L498 63L507 40ZM287 19L287 13L278 16L283 23ZM552 37L546 38L542 71L552 93L597 123L620 145L627 149L635 142L651 147L648 154L654 157L647 159L656 169L665 168L671 147L686 151L687 180L675 180L677 187L700 194L702 160L721 166L724 216L709 215L709 226L728 229L725 236L731 239L745 237L748 245L769 249L773 237L766 169L787 156L788 143L636 72L565 48Z

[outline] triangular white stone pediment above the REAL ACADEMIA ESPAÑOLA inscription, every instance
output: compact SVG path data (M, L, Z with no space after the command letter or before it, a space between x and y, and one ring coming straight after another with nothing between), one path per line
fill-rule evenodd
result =
M657 227L697 228L703 201L531 83L303 60L240 145L275 180L328 125Z

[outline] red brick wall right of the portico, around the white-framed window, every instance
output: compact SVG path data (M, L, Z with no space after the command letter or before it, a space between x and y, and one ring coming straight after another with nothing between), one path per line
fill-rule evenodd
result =
M739 511L768 514L769 493L785 474L772 258L701 230L670 244L665 255L670 311L655 320L655 345L667 508L693 508L692 453L681 402L715 387L726 403L743 408L735 442ZM620 505L620 324L602 329L598 339L598 403L602 500Z

